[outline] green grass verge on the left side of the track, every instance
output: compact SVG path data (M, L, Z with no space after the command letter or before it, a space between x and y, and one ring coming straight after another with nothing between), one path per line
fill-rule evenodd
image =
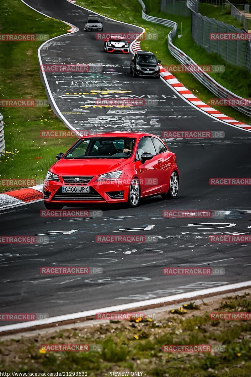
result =
M52 38L69 29L61 21L33 11L20 0L6 0L1 6L0 18L1 33L46 33ZM36 41L0 43L1 99L47 99L37 57L40 44ZM41 138L40 130L65 130L64 124L50 106L2 107L1 112L6 152L0 158L0 178L43 179L56 161L55 155L67 150L71 141ZM0 192L14 189L0 186Z

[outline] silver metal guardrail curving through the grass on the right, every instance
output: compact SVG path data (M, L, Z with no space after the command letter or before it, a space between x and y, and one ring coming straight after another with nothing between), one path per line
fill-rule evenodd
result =
M171 20L165 20L164 18L158 18L158 17L153 17L149 16L146 14L146 6L143 3L142 0L138 0L140 2L143 10L142 10L142 18L143 20L146 21L151 21L157 24L161 24L164 26L167 26L169 28L172 28L172 30L168 34L168 48L170 53L181 63L184 65L193 65L197 66L196 71L197 72L191 72L191 74L200 82L202 83L207 89L209 89L212 93L214 93L217 97L219 98L229 98L231 100L244 100L244 98L239 97L233 92L230 92L230 90L226 89L224 86L219 84L217 81L215 81L212 77L210 77L206 72L204 72L198 64L195 63L188 55L186 55L183 51L181 51L178 47L176 47L172 43L172 38L175 37L176 32L177 32L177 24L174 21ZM196 0L188 0L187 1L187 6L191 11L194 11L197 6L197 1ZM239 112L251 116L251 106L231 106L234 109L238 110Z

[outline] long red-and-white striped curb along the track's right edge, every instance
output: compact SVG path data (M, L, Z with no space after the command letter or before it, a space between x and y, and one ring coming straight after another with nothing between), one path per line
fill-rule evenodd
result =
M140 41L135 41L132 43L131 51L134 52L134 54L137 51L142 51L140 48ZM190 90L188 90L183 84L181 84L180 81L178 81L172 73L165 69L161 64L159 64L159 66L161 78L167 84L169 84L174 90L176 90L180 97L186 98L186 100L189 101L193 106L197 107L199 110L207 113L208 115L213 116L217 120L224 121L225 123L228 123L231 126L251 131L250 124L245 124L236 119L233 119L230 116L227 116L221 113L220 111L215 110L208 104L204 103L198 97L196 97Z

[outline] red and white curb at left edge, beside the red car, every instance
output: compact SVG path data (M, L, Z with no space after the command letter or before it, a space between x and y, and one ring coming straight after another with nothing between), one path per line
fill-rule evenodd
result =
M0 194L0 210L43 199L43 185Z

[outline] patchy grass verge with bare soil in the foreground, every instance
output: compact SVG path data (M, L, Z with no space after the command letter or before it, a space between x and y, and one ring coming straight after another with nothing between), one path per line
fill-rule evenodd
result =
M142 375L173 377L193 373L214 375L250 375L251 323L248 320L210 320L211 311L251 311L249 293L227 297L221 302L183 305L181 314L174 310L159 313L157 320L123 321L56 330L54 333L2 340L0 369L8 372L80 372L89 377L108 376L109 372L142 372ZM101 352L45 352L41 344L101 344ZM225 345L224 352L189 354L167 353L170 344ZM242 374L242 375L243 375ZM111 374L110 374L111 375Z

